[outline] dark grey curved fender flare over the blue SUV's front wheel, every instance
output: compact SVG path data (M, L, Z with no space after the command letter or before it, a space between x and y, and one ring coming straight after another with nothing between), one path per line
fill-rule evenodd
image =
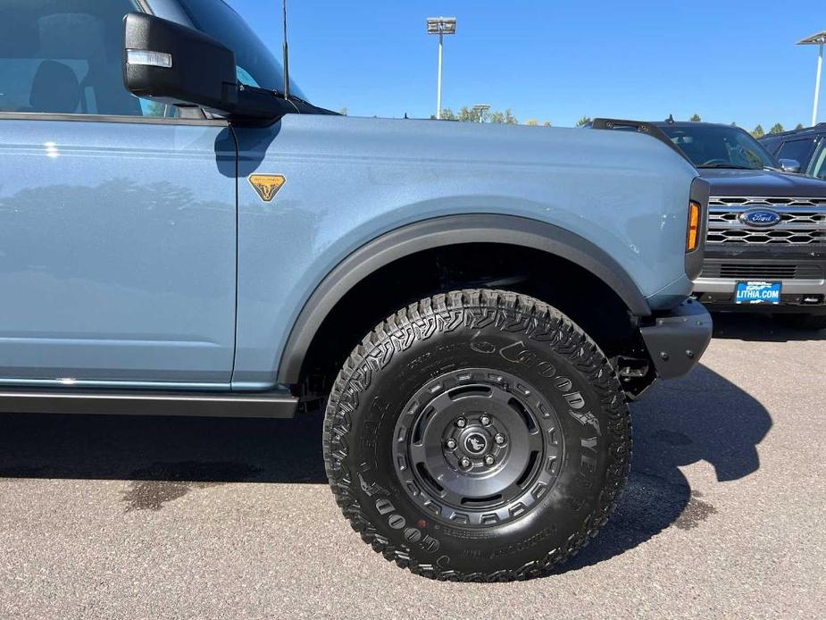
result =
M514 215L447 215L390 230L359 247L328 273L293 324L281 354L278 382L290 384L299 381L305 355L316 331L358 282L399 258L433 247L462 243L532 247L562 257L605 282L628 306L631 314L651 314L646 297L629 274L605 250L570 230ZM388 314L395 309L388 308Z

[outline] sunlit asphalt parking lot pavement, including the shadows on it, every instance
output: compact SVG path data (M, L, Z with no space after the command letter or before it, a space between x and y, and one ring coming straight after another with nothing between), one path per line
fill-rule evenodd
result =
M336 507L321 416L0 415L0 618L822 617L826 331L715 317L632 406L630 482L559 574L432 582Z

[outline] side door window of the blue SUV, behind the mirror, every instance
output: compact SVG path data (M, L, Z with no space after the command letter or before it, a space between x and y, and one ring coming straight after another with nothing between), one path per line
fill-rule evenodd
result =
M0 112L174 116L123 87L132 0L0 0Z

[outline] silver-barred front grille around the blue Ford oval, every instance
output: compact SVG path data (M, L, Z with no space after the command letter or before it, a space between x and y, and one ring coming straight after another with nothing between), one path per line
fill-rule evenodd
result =
M780 222L770 228L740 222L740 214L755 208L777 212ZM826 197L712 197L708 201L707 240L752 245L826 243Z

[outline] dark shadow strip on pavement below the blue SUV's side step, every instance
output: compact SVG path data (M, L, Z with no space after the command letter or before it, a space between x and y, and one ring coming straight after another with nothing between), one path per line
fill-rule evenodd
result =
M0 414L0 477L324 483L321 422Z

